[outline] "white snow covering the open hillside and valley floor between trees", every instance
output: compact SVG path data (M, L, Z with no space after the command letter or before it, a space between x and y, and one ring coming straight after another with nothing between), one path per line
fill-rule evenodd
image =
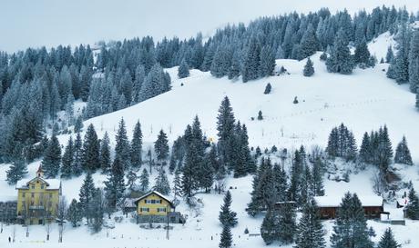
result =
M393 45L393 39L384 34L369 45L371 53L380 61L385 55L388 45ZM320 54L313 55L315 74L312 77L302 76L303 61L278 60L277 66L284 66L289 74L271 76L246 84L240 81L231 82L227 78L215 79L209 73L197 70L185 79L176 79L177 68L169 69L172 76L173 89L166 94L149 99L141 104L124 110L98 116L87 120L94 124L101 137L105 132L110 135L112 146L115 145L114 135L118 129L118 122L123 117L128 128L128 135L132 135L132 128L139 120L144 135L144 150L148 150L157 139L160 129L173 141L183 134L187 124L192 122L198 114L204 133L216 139L216 117L222 98L230 98L236 119L248 126L251 146L288 149L304 144L325 146L328 135L333 126L344 123L355 134L358 144L361 144L365 131L377 130L386 124L389 128L393 148L406 135L411 149L414 163L419 164L419 113L414 109L414 94L408 91L406 85L397 85L385 77L384 69L387 64L377 64L373 69L356 69L351 75L328 74ZM271 83L271 94L263 94L265 85ZM183 86L181 86L183 84ZM299 104L292 104L297 96ZM259 111L263 113L263 120L251 120ZM58 137L61 144L66 144L68 135ZM32 177L39 162L29 165ZM419 177L416 166L404 167L398 165L405 181L412 180L419 188ZM0 195L15 194L15 188L5 183L7 165L0 165ZM155 174L153 174L155 176ZM350 183L336 183L325 180L326 194L342 197L347 191L360 194L373 194L371 178L373 171L367 170L359 174L352 174ZM102 185L105 175L95 174L95 184ZM171 178L169 178L171 181ZM64 180L63 194L67 200L78 197L78 190L83 177ZM151 180L153 182L153 180ZM251 218L245 213L245 207L250 202L251 177L229 179L228 186L233 187L232 209L238 213L239 225L233 228L233 240L236 247L263 247L261 237L250 237L244 234L249 228L250 233L259 233L261 217ZM236 189L237 187L237 189ZM166 239L166 231L162 228L146 230L139 228L130 219L124 218L122 223L116 223L114 229L104 229L97 234L90 234L86 226L76 229L67 226L64 243L57 243L57 227L54 226L51 240L45 242L46 230L44 226L31 226L30 235L26 237L24 227L20 225L5 226L0 233L0 247L6 247L7 237L16 229L15 247L217 247L219 244L221 226L218 213L222 202L222 195L199 194L203 207L199 214L190 211L184 203L179 205L179 211L189 215L185 225L174 224L174 229ZM393 203L385 205L386 210L393 210ZM383 230L389 225L369 221L373 226L377 241ZM328 231L326 240L332 230L332 222L324 222ZM108 237L107 237L108 231ZM419 222L407 221L405 226L393 226L393 231L403 247L419 247ZM211 239L212 237L212 239ZM291 245L290 245L291 247Z

